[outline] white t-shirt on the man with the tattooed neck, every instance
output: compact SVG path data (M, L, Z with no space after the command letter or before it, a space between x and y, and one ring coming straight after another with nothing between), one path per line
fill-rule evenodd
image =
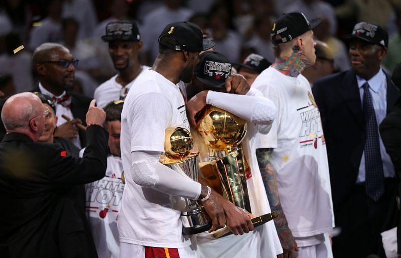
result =
M270 162L292 234L306 237L330 231L334 215L326 145L308 80L269 67L252 87L277 108L270 132L259 135L256 148L274 148Z

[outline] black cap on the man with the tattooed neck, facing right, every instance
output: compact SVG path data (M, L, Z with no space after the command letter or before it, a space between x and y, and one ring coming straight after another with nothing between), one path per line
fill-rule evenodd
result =
M277 19L272 27L273 44L285 43L312 30L321 23L321 18L308 21L302 13L283 14Z

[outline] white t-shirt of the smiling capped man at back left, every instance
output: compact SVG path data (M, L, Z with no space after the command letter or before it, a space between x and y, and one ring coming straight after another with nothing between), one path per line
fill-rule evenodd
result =
M143 65L142 70L138 74L138 76L148 68L149 66ZM135 79L133 79L130 83L128 83L127 85L125 85L125 87L123 87L120 83L116 81L117 76L118 74L114 75L113 77L103 82L102 84L99 85L99 87L96 88L94 98L96 99L96 105L98 107L103 108L111 101L120 100L124 98L128 94L128 91L131 88L132 83L136 80L136 78L138 78L138 76L136 76Z

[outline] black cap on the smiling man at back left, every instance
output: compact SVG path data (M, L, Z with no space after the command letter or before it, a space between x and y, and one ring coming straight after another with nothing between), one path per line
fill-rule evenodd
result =
M106 26L106 35L102 40L110 42L113 40L140 41L138 26L132 21L116 21L108 23Z

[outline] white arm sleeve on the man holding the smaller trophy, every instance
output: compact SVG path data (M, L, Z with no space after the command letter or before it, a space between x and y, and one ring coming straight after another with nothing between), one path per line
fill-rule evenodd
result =
M133 181L140 186L165 194L198 199L202 185L161 164L160 154L151 151L131 152Z

